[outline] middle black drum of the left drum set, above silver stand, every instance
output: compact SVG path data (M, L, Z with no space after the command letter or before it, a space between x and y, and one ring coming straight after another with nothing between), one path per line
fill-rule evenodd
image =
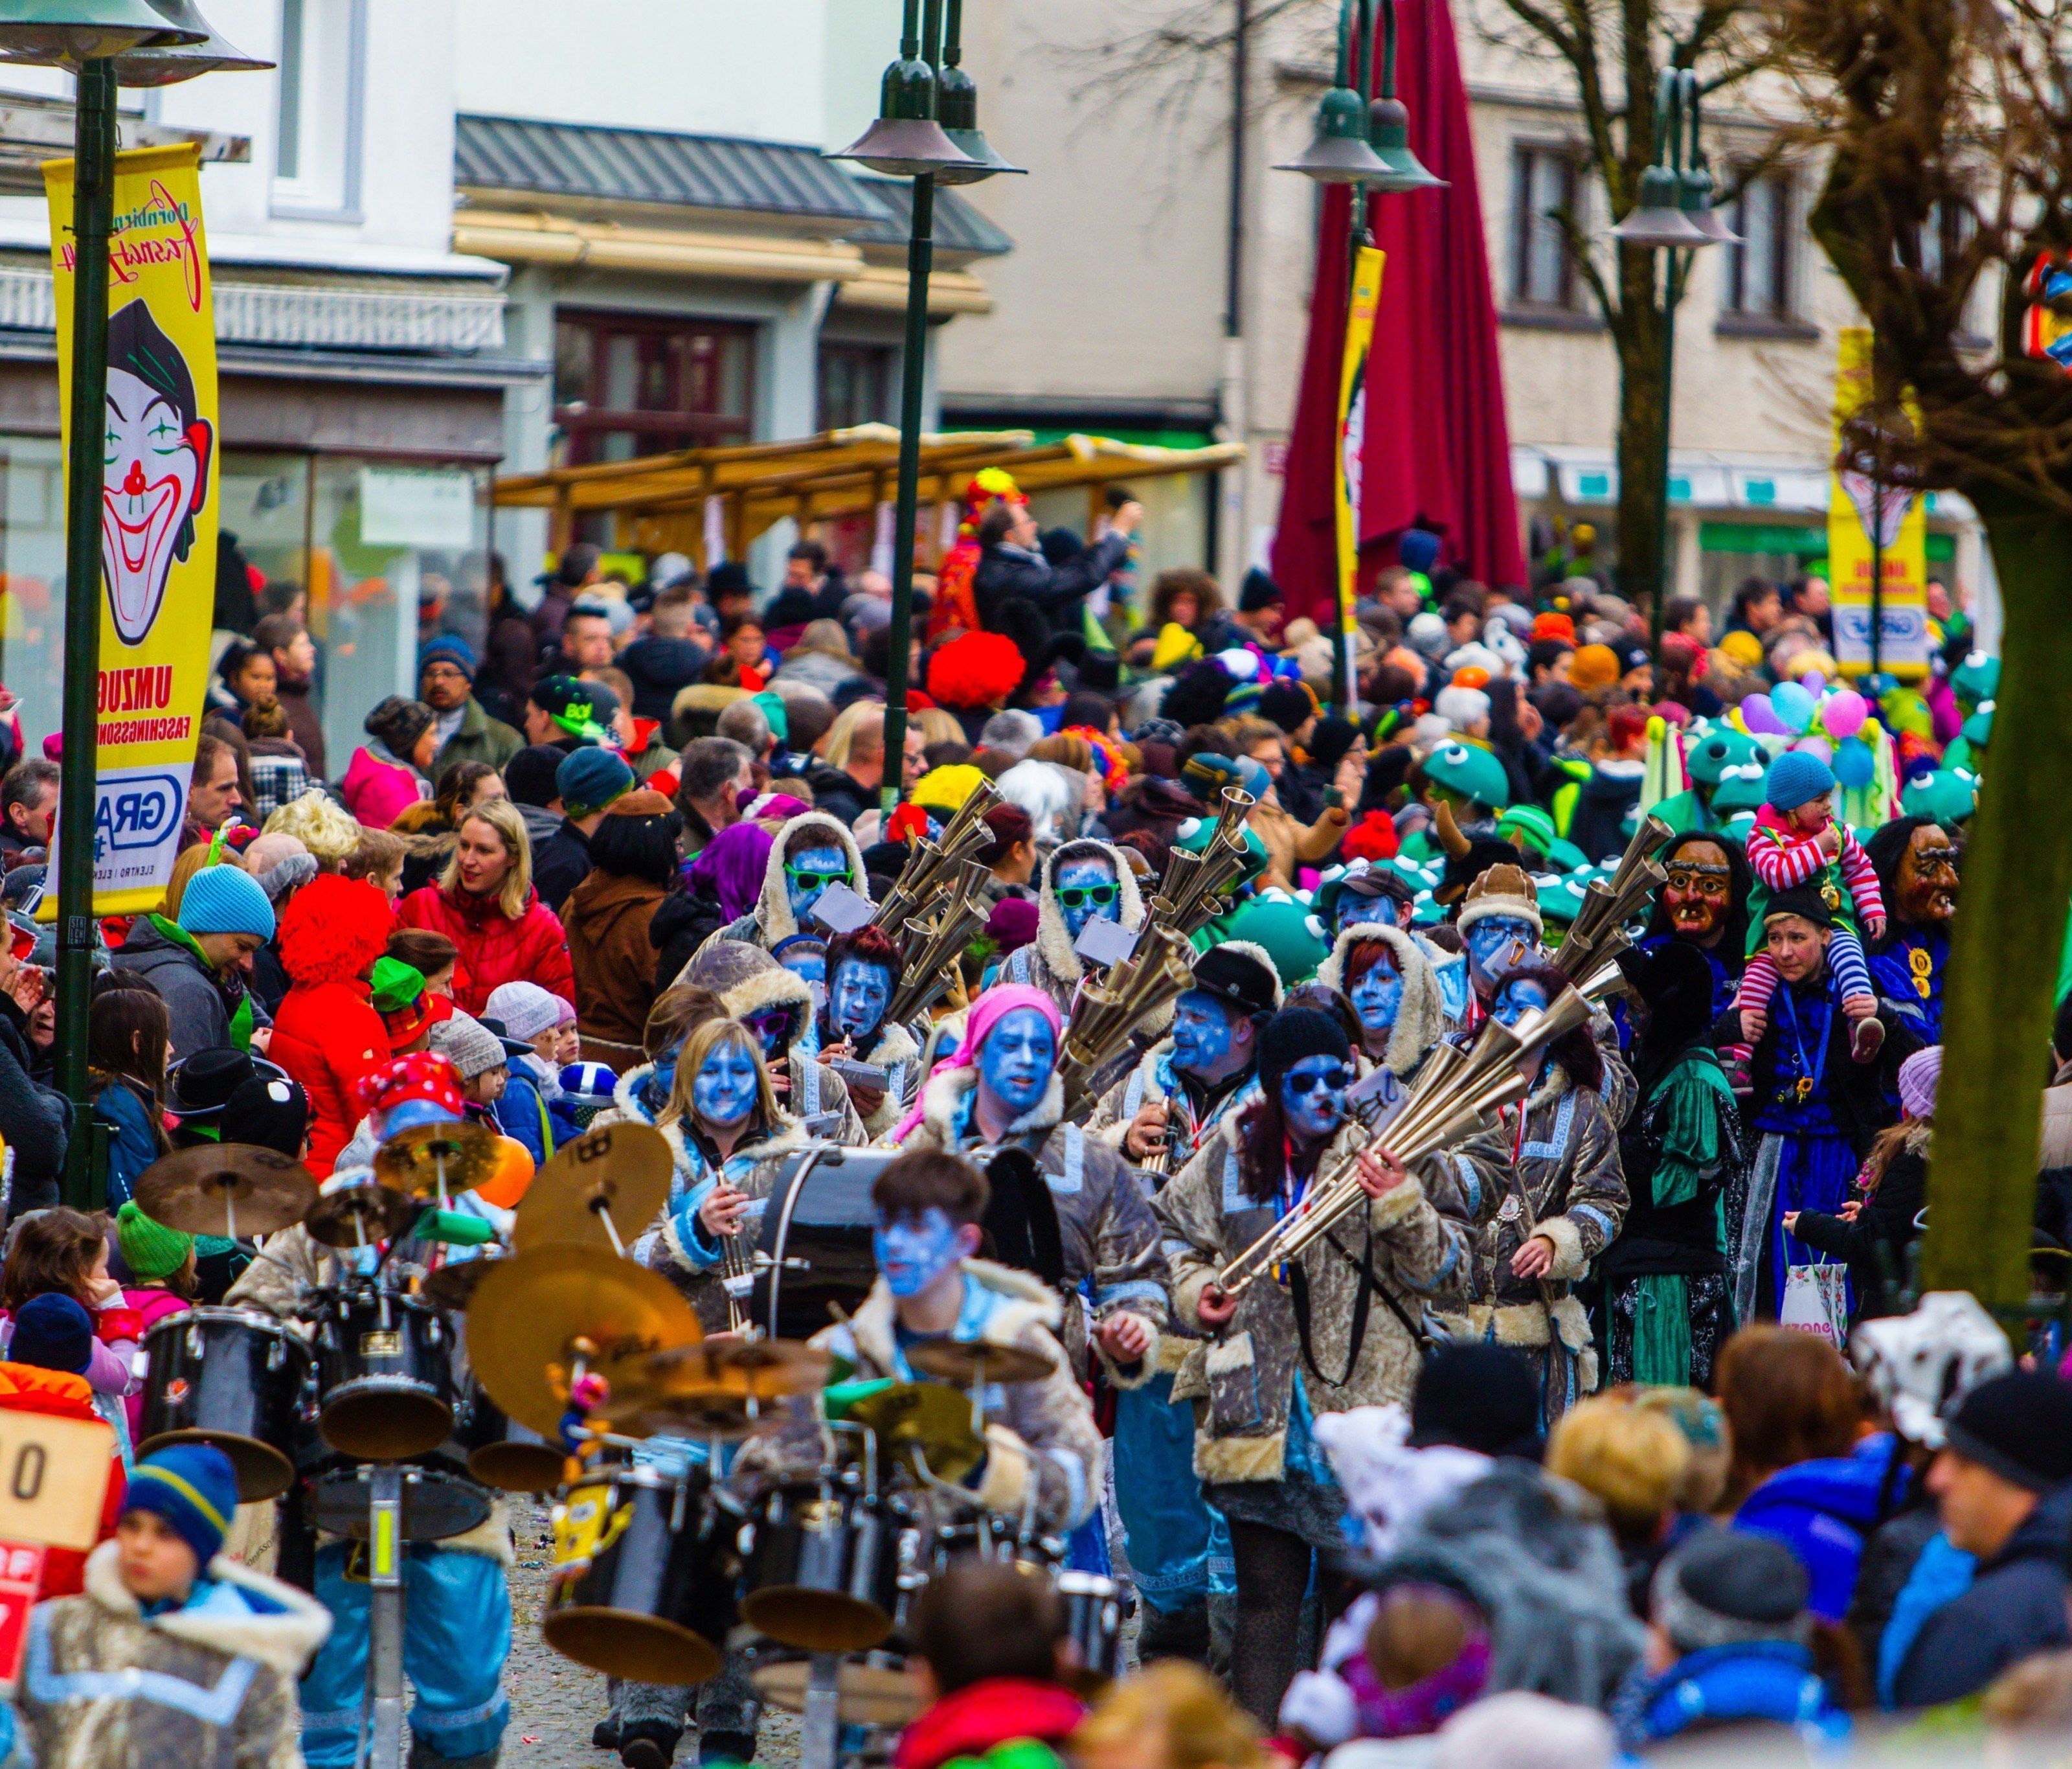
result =
M437 1309L385 1290L329 1296L317 1319L323 1441L406 1462L454 1435L454 1348Z

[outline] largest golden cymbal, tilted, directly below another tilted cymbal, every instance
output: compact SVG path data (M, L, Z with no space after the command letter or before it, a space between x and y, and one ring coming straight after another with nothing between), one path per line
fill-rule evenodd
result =
M675 1286L655 1271L588 1246L535 1246L497 1259L468 1302L468 1356L489 1398L520 1425L555 1437L576 1342L591 1346L588 1367L620 1394L638 1387L655 1352L694 1346L698 1317Z

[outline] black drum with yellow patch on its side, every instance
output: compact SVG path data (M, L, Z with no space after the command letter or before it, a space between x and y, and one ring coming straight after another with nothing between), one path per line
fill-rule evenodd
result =
M702 1470L601 1468L553 1508L541 1634L593 1672L702 1684L733 1628L742 1522Z

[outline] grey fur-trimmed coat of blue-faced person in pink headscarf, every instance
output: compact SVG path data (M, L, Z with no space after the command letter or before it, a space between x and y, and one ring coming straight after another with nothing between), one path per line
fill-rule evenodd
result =
M978 1072L945 1068L922 1085L922 1118L901 1149L947 1149L961 1155L982 1141L976 1128ZM1057 1207L1059 1238L1065 1248L1063 1333L1073 1356L1090 1342L1082 1280L1092 1280L1092 1325L1111 1315L1131 1313L1154 1336L1167 1319L1164 1263L1158 1257L1158 1224L1135 1168L1088 1136L1077 1124L1061 1124L1065 1089L1057 1074L1021 1118L1007 1126L1001 1147L1021 1147L1036 1157ZM1106 1358L1102 1358L1106 1363ZM1109 1367L1119 1387L1133 1387L1156 1373L1156 1348L1140 1365Z

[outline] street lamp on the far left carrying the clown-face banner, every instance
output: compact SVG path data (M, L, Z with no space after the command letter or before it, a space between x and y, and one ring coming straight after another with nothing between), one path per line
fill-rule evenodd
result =
M116 87L259 68L191 0L0 0L0 56L70 68L73 398L64 452L64 751L58 784L58 1083L73 1101L64 1197L91 1207L87 993L93 981L95 722L102 653L102 429L108 406L108 238Z

